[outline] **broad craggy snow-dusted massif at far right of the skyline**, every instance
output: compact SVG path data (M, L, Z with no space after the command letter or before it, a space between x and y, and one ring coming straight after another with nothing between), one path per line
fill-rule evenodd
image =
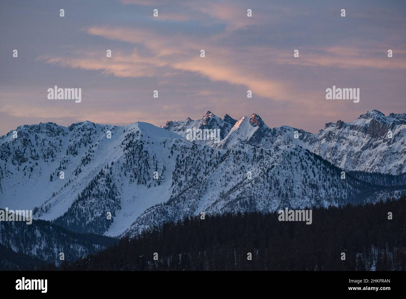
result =
M400 174L406 172L405 114L385 116L368 111L350 123L327 123L309 148L347 170ZM388 138L388 131L393 138Z

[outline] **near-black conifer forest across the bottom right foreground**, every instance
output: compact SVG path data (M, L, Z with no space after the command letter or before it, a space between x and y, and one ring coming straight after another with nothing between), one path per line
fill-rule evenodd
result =
M389 212L393 219L388 219ZM405 215L403 197L364 206L313 209L311 225L279 222L277 213L186 218L133 239L123 238L59 269L404 271ZM247 259L248 253L252 260Z

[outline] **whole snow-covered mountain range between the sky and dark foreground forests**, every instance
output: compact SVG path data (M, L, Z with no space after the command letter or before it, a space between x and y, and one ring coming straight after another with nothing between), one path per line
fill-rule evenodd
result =
M220 142L187 140L193 127ZM317 134L209 111L161 128L23 125L0 138L0 208L121 236L201 212L374 202L404 193L405 136L406 114L376 110Z

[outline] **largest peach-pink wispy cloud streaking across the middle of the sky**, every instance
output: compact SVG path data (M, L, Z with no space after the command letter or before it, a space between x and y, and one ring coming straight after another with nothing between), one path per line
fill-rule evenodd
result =
M228 82L229 84L244 85L261 97L270 99L287 99L288 86L276 80L269 80L247 68L246 61L235 62L228 57L240 55L232 50L212 45L205 58L200 57L200 47L192 41L178 42L173 37L158 37L152 32L144 32L130 28L92 27L89 34L108 39L140 44L149 49L149 55L141 57L137 48L131 54L116 51L112 58L103 57L103 53L87 50L80 53L80 58L54 57L45 58L47 63L58 64L62 67L72 67L89 70L101 70L103 73L118 77L161 76L160 67L170 67L173 71L194 72L212 81ZM208 43L202 41L202 43ZM248 48L248 51L258 52L258 49ZM183 54L179 56L177 54ZM248 53L247 55L250 55ZM103 58L102 58L103 57ZM41 59L41 58L40 58ZM251 60L252 61L252 60ZM248 64L249 65L249 64ZM171 71L169 72L171 73ZM164 73L168 76L168 72Z

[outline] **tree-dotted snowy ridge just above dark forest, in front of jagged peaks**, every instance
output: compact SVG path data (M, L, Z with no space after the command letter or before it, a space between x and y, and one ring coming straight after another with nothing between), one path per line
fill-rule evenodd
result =
M297 145L272 150L240 145L218 157L209 172L190 183L185 181L176 196L147 209L126 234L134 237L146 227L201 212L272 212L285 207L365 204L406 192L406 175L349 172L342 179L340 168Z

